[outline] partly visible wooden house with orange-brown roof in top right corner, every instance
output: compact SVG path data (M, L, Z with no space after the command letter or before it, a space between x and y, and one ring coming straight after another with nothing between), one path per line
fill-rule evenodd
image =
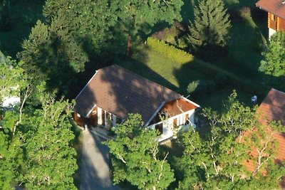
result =
M268 12L269 38L276 31L285 29L285 1L259 0L256 4L260 9Z

